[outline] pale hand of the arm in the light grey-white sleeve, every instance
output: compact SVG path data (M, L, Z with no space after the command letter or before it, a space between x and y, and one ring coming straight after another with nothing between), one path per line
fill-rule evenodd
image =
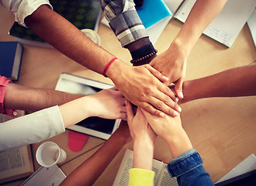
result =
M124 105L126 98L123 97L117 88L104 89L88 96L92 98L90 106L93 116L105 119L127 119L126 107Z

